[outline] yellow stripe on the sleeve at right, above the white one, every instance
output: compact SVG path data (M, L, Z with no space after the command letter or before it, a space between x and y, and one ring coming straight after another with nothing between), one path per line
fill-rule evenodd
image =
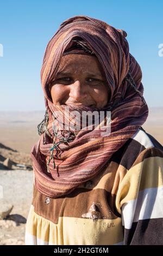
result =
M116 208L121 214L121 206L138 197L139 191L163 185L163 158L148 157L130 168L117 191Z

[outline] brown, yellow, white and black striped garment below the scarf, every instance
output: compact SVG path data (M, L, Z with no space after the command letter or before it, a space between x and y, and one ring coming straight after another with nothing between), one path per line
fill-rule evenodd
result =
M163 147L140 127L95 178L59 198L36 190L26 245L163 244Z

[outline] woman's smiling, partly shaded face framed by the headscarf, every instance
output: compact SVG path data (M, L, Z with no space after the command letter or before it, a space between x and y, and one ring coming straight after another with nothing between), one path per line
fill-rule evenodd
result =
M50 90L54 105L93 105L101 108L108 103L109 86L95 56L62 56Z

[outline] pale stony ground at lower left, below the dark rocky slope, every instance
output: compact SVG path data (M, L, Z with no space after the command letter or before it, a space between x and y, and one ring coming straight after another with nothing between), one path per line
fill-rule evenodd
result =
M0 245L24 245L26 219L33 191L33 171L0 170ZM14 206L12 208L12 206Z

